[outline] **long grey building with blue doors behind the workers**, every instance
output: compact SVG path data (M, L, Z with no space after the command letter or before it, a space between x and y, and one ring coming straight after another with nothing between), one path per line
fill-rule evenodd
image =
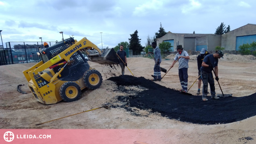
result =
M172 51L177 45L182 45L186 51L200 51L202 48L214 51L217 46L230 51L238 50L240 45L256 42L256 25L247 24L223 35L167 32L157 39L157 46L163 41L171 43Z

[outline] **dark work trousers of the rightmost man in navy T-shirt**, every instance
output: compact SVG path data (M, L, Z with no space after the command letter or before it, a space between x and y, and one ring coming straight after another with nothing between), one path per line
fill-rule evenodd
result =
M208 91L208 83L210 84L211 89L211 96L215 96L215 86L214 86L214 79L212 73L206 73L205 71L201 71L201 77L203 81L203 98L206 98L207 91Z

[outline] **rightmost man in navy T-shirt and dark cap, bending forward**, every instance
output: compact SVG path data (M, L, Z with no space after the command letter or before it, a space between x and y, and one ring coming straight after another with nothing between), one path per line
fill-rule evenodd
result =
M208 83L210 84L211 89L211 98L212 99L219 99L219 97L216 96L215 93L215 86L214 86L214 78L212 75L212 70L214 69L216 78L215 80L219 80L218 77L218 61L219 58L223 58L223 52L222 51L216 51L214 54L206 55L203 59L202 67L200 68L201 71L201 77L203 81L203 95L202 100L207 101L207 90L208 90Z

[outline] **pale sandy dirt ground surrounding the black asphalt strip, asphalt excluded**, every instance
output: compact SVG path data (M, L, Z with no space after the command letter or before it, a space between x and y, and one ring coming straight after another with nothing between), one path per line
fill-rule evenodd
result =
M189 61L189 84L196 80L197 63L194 56ZM173 62L162 59L161 67L169 69ZM224 93L232 93L234 97L249 96L256 93L256 60L251 56L224 55L219 61L219 83ZM151 79L154 60L149 58L127 58L130 71L136 77ZM163 129L160 132L164 144L255 144L256 143L256 116L228 124L203 125L181 122L170 119L158 112L150 112L133 108L140 115L132 111L115 106L111 110L104 108L70 116L46 124L35 124L50 121L74 113L97 108L102 104L114 103L122 105L118 96L129 96L129 89L142 91L145 88L125 86L124 92L117 90L118 86L113 81L107 80L120 75L120 67L111 68L108 65L99 65L89 62L103 76L103 83L99 89L83 90L82 97L75 102L59 102L54 105L44 105L37 102L32 96L22 71L33 65L13 64L0 66L0 128L1 129ZM127 68L125 74L132 75ZM162 76L164 73L162 73ZM178 63L174 65L162 81L155 82L171 89L181 89L178 79ZM25 84L21 90L28 94L21 94L16 90L18 84ZM221 93L217 83L216 92ZM202 86L201 86L202 89ZM197 83L189 90L196 95ZM159 92L159 95L161 92ZM202 102L200 102L202 103ZM207 104L205 104L207 105ZM202 104L202 106L205 106ZM239 107L237 111L239 111ZM248 109L255 111L255 109ZM243 113L241 113L242 115ZM209 113L211 115L211 113ZM151 136L152 137L152 136ZM156 144L151 138L144 138L144 143ZM134 140L133 140L134 141Z

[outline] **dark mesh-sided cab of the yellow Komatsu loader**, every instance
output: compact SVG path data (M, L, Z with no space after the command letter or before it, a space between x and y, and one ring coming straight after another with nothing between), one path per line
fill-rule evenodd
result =
M56 55L60 54L67 48L69 48L71 45L75 43L74 38L68 38L64 41L57 42L56 44L42 49L40 52L41 58L43 63L46 63L47 61L51 60ZM64 60L61 60L58 63L62 63ZM53 64L54 65L54 64ZM59 65L57 67L53 68L53 71L56 73L59 68L63 67L64 65ZM73 55L70 57L70 62L66 65L64 70L60 73L61 77L58 76L58 79L62 81L76 81L82 78L83 74L86 70L89 70L89 64L87 63L85 57L83 57L82 53L80 51L76 51L73 53Z

